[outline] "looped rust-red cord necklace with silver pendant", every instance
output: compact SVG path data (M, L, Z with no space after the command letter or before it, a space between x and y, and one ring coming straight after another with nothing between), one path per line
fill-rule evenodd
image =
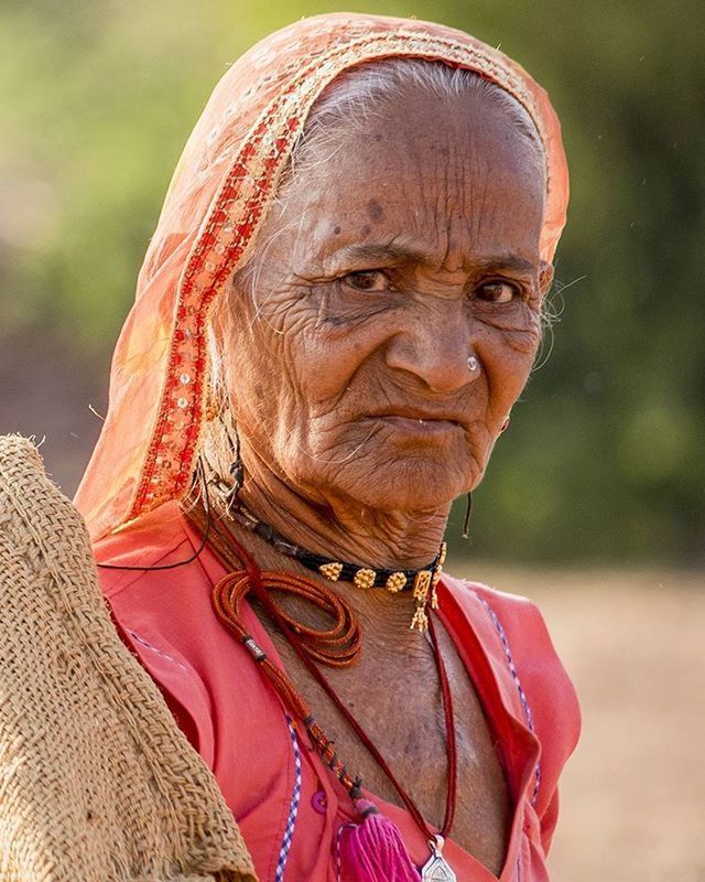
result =
M204 535L205 530L208 528L209 516L206 515L203 508L200 506L191 508L185 512L185 515L198 531ZM438 879L448 880L448 882L451 882L455 879L455 875L442 856L442 848L445 838L451 831L455 816L457 794L457 745L453 714L453 697L451 693L448 675L441 655L433 617L429 615L429 635L431 637L431 645L433 647L443 698L446 753L448 760L445 813L438 832L434 832L429 827L412 798L397 781L394 774L384 761L384 757L375 746L360 723L344 704L316 664L318 663L329 667L349 667L358 662L361 653L361 632L355 613L332 589L324 584L318 584L317 582L294 573L260 570L253 557L240 546L230 530L224 528L221 524L223 523L219 520L213 520L210 523L208 536L208 544L212 550L226 569L230 570L227 576L220 579L213 591L213 605L218 619L249 650L254 662L260 666L263 675L280 696L289 712L306 728L313 746L326 766L340 782L352 802L358 803L362 796L361 778L359 776L354 776L347 770L339 759L333 741L316 722L307 701L299 692L286 674L271 662L247 630L242 615L243 603L249 594L252 594L260 602L265 612L286 637L311 676L326 691L335 707L343 714L375 762L384 773L422 836L429 842L432 857L422 868L422 880ZM275 592L294 594L305 599L329 615L333 619L333 626L326 631L310 627L297 622L274 603L271 594Z

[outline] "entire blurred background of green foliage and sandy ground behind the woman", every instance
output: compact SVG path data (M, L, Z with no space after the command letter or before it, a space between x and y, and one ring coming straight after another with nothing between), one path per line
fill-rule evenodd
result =
M228 64L302 15L467 30L549 90L572 171L539 366L456 571L536 599L585 734L556 882L705 880L702 0L3 0L0 432L73 494L181 149Z

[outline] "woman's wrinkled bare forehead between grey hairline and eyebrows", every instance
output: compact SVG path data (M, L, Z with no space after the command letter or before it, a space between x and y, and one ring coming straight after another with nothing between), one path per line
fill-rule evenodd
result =
M383 112L330 126L294 163L247 275L263 259L335 275L358 268L352 252L360 266L387 263L391 251L427 266L505 252L536 262L543 153L491 96L440 103L411 92Z

